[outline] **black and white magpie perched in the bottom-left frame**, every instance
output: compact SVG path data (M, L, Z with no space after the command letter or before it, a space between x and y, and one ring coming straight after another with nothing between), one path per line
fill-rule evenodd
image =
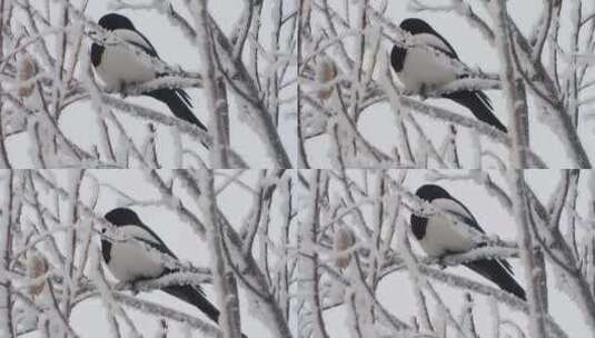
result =
M147 225L137 212L128 208L116 208L107 212L103 218L115 226L112 237L123 238L115 240L101 239L101 255L109 271L121 282L135 285L138 281L158 278L176 272L177 269L168 267L156 252L177 261L176 255ZM107 228L101 232L107 233ZM198 285L169 285L162 291L197 307L214 322L219 321L219 310L205 296ZM246 337L242 335L242 337Z

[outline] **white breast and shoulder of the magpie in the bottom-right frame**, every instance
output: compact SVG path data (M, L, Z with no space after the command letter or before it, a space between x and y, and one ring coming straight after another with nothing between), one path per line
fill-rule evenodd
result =
M460 215L467 212L450 199L435 199L432 205L443 211L455 211ZM474 235L464 229L466 225L455 225L454 217L435 213L428 217L426 233L418 240L419 246L428 256L443 256L452 252L465 252L476 246Z

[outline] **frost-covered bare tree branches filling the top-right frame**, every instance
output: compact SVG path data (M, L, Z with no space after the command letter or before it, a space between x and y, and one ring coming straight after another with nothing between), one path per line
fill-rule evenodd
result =
M301 2L301 167L310 168L314 159L315 163L346 168L591 168L591 140L582 123L589 118L593 103L589 69L595 22L588 1L573 1L564 8L562 1L537 1L534 6L541 16L528 32L517 22L526 19L514 19L518 16L508 11L505 1L410 0L406 11L404 2ZM498 56L499 69L490 72L460 62L445 64L465 76L444 88L406 92L388 56L393 46L405 46L407 38L394 18L418 14L443 16L457 27L478 31ZM470 44L458 47L465 48L473 49ZM459 90L502 90L505 105L496 115L507 117L508 133L425 100ZM416 95L422 100L413 97ZM394 115L396 137L390 137L390 142L374 142L370 131L363 131L363 117L386 110ZM541 122L529 125L529 117L535 120L535 116L543 117ZM428 118L444 127L428 125ZM538 129L551 129L557 136L552 142L564 148L559 157L548 158L549 162L542 157L551 153L551 142L532 142ZM459 137L460 131L470 132L473 141ZM320 155L320 143L330 150ZM460 148L473 148L475 157L462 162L457 156Z

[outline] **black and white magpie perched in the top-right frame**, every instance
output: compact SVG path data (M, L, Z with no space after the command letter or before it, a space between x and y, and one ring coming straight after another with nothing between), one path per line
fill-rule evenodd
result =
M426 21L408 18L400 22L399 28L409 34L405 43L393 46L390 64L408 91L425 96L427 87L440 87L465 77L449 64L449 61L460 62L453 46ZM492 101L485 92L459 90L442 97L464 106L478 120L507 132L494 115Z

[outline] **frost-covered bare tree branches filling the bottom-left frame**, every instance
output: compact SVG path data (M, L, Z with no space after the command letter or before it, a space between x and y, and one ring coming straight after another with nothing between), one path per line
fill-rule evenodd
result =
M122 190L120 186L126 183L115 185L110 176L120 182L138 181L143 192ZM271 337L294 335L289 322L296 320L290 309L295 305L291 295L297 286L297 257L295 238L289 233L295 231L296 201L289 172L19 170L4 171L1 185L2 337L32 331L51 337L83 336L85 328L90 327L77 324L72 314L97 298L102 307L87 310L97 312L88 314L97 318L93 327L115 337L145 336L146 324L151 320L160 320L159 330L165 336L168 322L178 322L205 337L240 337L240 329L249 337L246 321L255 319ZM238 218L235 210L239 201L221 197L226 195L248 196L242 201L248 212ZM99 231L111 227L102 217L105 199L111 205L116 201L117 207L167 215L169 231L177 231L171 225L181 222L196 233L190 251L196 257L209 252L210 266L180 261L177 272L139 281L133 290L214 284L216 296L211 300L221 311L220 327L179 310L175 304L130 295L131 286L111 281L98 248L99 239L110 236ZM157 213L150 211L155 208ZM157 232L168 231L152 217L146 216L145 221ZM176 251L181 247L171 243L171 248ZM245 312L240 320L240 306L256 306L258 311ZM103 321L101 309L107 314Z

